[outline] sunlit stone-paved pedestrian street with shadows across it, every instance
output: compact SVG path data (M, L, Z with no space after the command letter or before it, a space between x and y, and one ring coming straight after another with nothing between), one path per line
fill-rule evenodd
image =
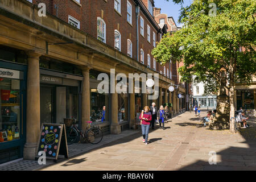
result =
M41 170L256 170L256 122L237 134L203 127L202 117L187 111L165 124L166 130L150 129L149 143L141 131L92 148ZM118 135L116 135L118 137ZM76 144L79 151L80 144ZM216 152L216 163L209 164ZM71 151L72 152L72 151Z

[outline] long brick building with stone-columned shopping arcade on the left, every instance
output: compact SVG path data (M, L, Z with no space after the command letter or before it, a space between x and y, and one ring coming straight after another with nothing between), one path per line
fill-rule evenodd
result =
M86 121L104 133L135 128L150 93L98 92L101 73L162 73L153 101L175 105L170 65L151 55L167 28L155 21L153 7L151 0L0 1L0 132L13 132L0 142L0 163L34 160L42 123L76 117L82 130Z

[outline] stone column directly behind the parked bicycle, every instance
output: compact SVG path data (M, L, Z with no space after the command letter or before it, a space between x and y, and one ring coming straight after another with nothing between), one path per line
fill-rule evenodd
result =
M89 78L90 68L82 67L81 69L82 69L82 76L84 77L84 80L82 81L81 126L82 126L82 131L85 131L88 125L86 121L90 121L90 78Z

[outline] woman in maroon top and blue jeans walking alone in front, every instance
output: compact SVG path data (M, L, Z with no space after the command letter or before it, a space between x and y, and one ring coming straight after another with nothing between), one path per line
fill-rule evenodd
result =
M143 143L147 144L150 121L152 121L152 115L150 112L150 108L148 106L145 106L144 110L141 111L141 115L139 116L139 119L141 119L141 131L142 131Z

